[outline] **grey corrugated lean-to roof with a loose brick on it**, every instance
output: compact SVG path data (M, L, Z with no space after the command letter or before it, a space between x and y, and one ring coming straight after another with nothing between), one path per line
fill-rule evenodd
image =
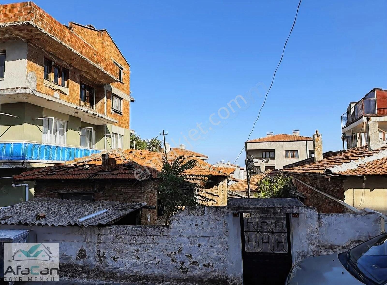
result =
M0 209L0 224L48 225L48 226L97 226L114 224L117 220L147 204L115 201L62 200L58 198L34 198L27 202ZM101 214L79 221L88 215L108 209ZM46 217L36 220L36 214ZM5 216L10 216L7 219Z

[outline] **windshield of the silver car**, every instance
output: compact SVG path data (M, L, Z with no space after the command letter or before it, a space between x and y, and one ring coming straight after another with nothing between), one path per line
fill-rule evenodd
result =
M376 236L349 251L349 260L375 284L387 282L387 234Z

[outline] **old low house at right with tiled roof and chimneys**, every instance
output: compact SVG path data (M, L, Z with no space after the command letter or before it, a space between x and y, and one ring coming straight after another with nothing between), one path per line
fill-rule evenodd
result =
M338 199L356 209L387 213L387 144L380 144L379 137L372 139L373 134L378 136L371 132L368 146L326 153L322 153L321 135L316 134L314 158L285 166L281 173L293 177L304 203L318 212L343 212Z

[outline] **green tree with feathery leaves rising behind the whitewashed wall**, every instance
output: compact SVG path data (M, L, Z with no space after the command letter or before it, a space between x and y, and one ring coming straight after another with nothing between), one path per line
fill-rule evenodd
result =
M194 168L197 160L188 160L184 156L179 156L174 161L164 161L163 168L158 175L160 183L159 205L165 215L165 224L169 218L187 206L198 206L200 201L214 201L205 197L204 187L205 175L185 174L184 171ZM204 182L204 183L200 183Z

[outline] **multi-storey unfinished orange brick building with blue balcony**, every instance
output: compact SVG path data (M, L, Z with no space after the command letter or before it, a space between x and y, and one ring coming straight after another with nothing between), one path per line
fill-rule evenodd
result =
M3 176L130 148L131 101L130 66L106 30L63 25L33 2L0 5ZM0 206L24 200L7 182Z

